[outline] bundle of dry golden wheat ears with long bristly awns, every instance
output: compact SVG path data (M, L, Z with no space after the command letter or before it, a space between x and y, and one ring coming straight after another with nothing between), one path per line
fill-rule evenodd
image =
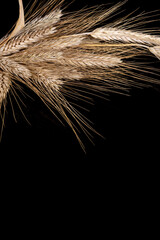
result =
M148 67L136 64L136 59L151 54L160 59L160 37L139 30L142 15L128 15L103 26L124 2L107 10L96 7L64 14L63 2L50 0L35 8L34 1L25 16L19 0L15 28L0 40L2 125L7 99L25 84L53 113L59 112L84 147L77 127L88 137L93 129L72 99L89 101L91 94L125 92L131 86L156 82Z

